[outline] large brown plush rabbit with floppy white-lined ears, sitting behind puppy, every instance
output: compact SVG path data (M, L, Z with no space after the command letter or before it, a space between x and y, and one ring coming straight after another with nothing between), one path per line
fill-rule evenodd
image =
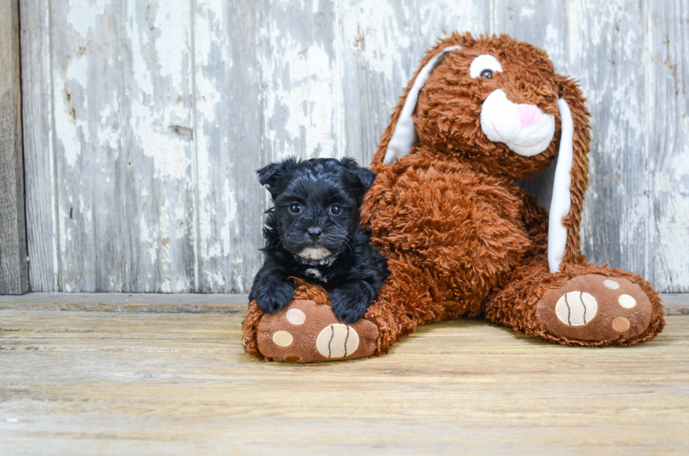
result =
M463 315L560 344L633 345L664 327L638 275L595 266L579 248L588 184L584 98L539 48L453 34L430 49L383 133L362 223L390 277L354 325L323 289L263 315L244 345L257 358L311 362L387 353L417 325ZM516 185L557 159L548 211Z

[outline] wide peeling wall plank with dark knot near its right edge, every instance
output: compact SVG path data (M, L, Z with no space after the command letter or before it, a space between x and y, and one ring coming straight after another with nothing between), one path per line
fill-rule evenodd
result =
M190 8L51 2L63 291L195 289Z

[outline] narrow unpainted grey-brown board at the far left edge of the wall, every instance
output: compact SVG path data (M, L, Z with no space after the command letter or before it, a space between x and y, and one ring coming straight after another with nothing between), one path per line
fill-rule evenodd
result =
M0 0L0 294L29 289L21 95L19 3Z

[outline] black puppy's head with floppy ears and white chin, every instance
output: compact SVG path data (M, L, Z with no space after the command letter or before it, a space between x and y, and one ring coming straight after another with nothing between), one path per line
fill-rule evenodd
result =
M273 197L283 248L316 261L345 250L375 178L348 158L287 159L257 172Z

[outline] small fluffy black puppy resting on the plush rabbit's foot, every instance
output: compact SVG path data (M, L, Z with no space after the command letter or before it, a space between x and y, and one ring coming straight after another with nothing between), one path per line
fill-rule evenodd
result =
M385 256L359 227L359 209L375 174L351 158L288 158L257 171L274 207L266 214L265 261L249 299L266 313L294 297L290 277L322 285L343 323L363 317L389 274Z

